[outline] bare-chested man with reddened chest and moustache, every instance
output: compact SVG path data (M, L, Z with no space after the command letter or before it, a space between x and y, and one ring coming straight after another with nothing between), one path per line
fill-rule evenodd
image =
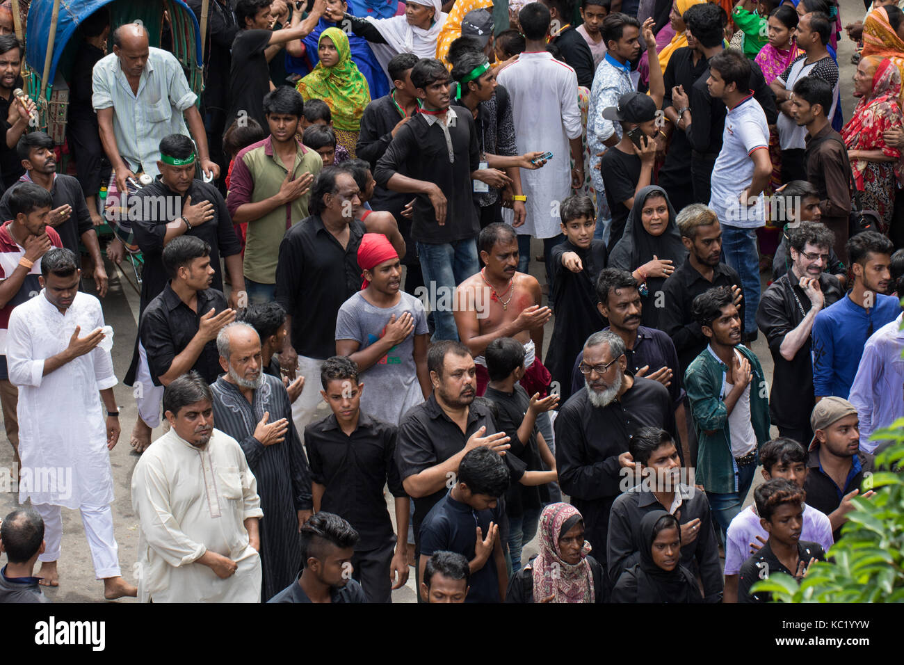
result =
M477 365L477 394L484 394L489 382L486 345L496 337L513 337L524 345L527 372L521 385L527 394L545 397L551 375L537 355L552 310L541 307L540 282L518 272L518 236L508 224L488 225L480 232L477 247L486 267L458 286L455 309L458 337Z

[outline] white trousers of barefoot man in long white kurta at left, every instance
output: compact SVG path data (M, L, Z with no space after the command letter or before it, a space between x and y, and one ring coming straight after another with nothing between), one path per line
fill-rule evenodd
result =
M62 508L49 503L38 503L34 509L44 520L44 553L38 561L57 561L60 558L62 540ZM91 549L91 560L94 562L94 575L98 579L118 577L119 546L113 537L113 511L109 506L95 508L81 506L81 523L85 527L85 537Z

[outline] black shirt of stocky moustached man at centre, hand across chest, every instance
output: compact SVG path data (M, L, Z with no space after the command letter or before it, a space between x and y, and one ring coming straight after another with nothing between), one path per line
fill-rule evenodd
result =
M467 424L465 432L461 431L456 423L447 416L446 412L437 403L436 394L430 394L427 401L412 407L405 413L399 424L399 439L396 443L396 463L399 465L399 474L402 480L417 475L422 470L434 467L447 461L450 457L461 451L471 434L481 427L486 428L484 436L499 432L496 427L493 405L483 397L476 397L467 410ZM503 460L513 470L513 461L505 455ZM520 462L519 462L520 464ZM523 473L523 466L521 469ZM516 482L521 475L512 474L512 482ZM420 523L424 520L430 508L446 495L446 488L438 489L427 497L414 498L414 518L411 520L414 528L415 554L420 554Z

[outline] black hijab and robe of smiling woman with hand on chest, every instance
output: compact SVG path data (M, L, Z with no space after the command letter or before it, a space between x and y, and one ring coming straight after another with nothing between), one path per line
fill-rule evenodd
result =
M641 221L641 211L647 199L653 196L662 196L669 209L669 222L661 235L647 233ZM625 234L609 255L609 267L633 272L647 261L653 261L654 256L659 259L671 259L673 268L677 270L687 259L687 250L681 242L681 232L675 223L675 209L665 190L658 185L647 185L634 197L634 207L628 213L625 223ZM658 328L659 309L652 307L647 299L655 298L656 293L663 290L664 283L664 277L646 279L647 296L644 299L641 323L649 328Z

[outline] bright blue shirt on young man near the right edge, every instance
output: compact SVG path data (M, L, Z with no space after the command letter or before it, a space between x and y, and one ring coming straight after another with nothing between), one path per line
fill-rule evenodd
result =
M848 398L863 347L872 333L898 318L897 298L876 296L876 307L863 309L850 296L823 309L813 324L813 385L817 397Z

